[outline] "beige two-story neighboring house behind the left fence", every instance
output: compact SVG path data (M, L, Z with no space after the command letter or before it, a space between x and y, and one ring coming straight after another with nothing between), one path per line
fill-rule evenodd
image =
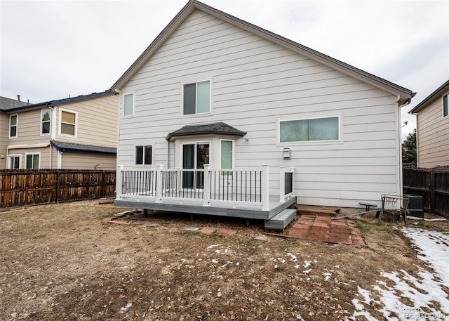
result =
M0 102L0 169L116 169L114 92L38 104Z

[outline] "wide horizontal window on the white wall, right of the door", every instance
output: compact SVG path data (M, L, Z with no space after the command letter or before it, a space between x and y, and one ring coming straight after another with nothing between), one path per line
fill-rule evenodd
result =
M339 140L339 129L339 117L280 121L279 142Z

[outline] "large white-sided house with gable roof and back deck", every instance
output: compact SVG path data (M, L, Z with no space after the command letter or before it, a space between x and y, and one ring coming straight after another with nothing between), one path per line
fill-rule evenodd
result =
M298 204L360 207L401 194L401 106L412 91L199 1L112 90L120 93L118 205L262 218L220 208L243 206L248 168L262 177L249 194L262 195L268 219L267 192L286 202L290 179ZM142 173L156 176L156 188ZM186 190L199 196L177 194ZM215 202L223 191L236 198ZM198 197L204 207L189 210L185 200Z

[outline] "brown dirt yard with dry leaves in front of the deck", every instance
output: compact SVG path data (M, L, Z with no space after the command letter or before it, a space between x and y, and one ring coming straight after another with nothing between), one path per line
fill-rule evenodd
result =
M76 202L0 212L0 320L344 320L358 286L422 266L393 224L356 219L361 247L260 241L261 223L187 214L102 222L122 210ZM205 226L237 232L182 230Z

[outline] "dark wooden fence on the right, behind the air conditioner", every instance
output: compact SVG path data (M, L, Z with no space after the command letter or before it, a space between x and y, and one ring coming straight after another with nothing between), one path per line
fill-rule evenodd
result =
M403 169L403 192L421 195L425 210L449 218L449 167Z

